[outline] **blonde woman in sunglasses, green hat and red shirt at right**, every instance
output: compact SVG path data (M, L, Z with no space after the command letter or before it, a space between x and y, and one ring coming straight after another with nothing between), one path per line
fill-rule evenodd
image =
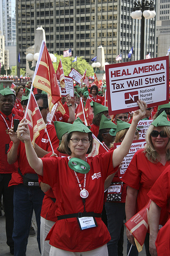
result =
M170 122L165 112L162 112L152 122L145 140L147 143L144 148L134 154L121 179L128 185L125 206L127 221L148 203L147 194L150 188L170 163ZM161 225L165 223L166 214L167 212L161 212ZM128 229L127 237L129 242L135 245L134 237ZM148 256L150 255L149 233L147 233L144 244ZM138 252L130 255L138 255Z

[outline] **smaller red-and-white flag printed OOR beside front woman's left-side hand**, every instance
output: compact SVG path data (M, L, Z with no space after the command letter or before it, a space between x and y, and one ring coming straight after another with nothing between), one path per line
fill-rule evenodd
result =
M41 112L33 92L31 93L30 101L28 104L26 119L30 130L31 142L34 146L35 139L39 136L39 132L46 127L46 124L41 116Z

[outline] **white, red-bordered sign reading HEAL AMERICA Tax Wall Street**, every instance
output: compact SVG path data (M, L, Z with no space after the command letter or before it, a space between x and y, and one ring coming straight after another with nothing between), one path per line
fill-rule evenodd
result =
M138 99L148 107L168 103L168 56L106 65L105 69L110 115L137 110Z

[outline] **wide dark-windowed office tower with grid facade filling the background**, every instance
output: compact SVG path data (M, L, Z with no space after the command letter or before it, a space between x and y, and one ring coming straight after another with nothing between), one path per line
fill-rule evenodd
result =
M49 52L63 54L71 48L72 56L82 56L89 63L100 45L104 47L105 60L115 62L122 53L134 46L133 59L140 56L140 20L133 21L131 0L19 0L16 1L17 45L20 67L26 67L26 49L34 45L35 30L45 30ZM155 19L146 24L145 54L155 55ZM132 59L131 59L132 60Z

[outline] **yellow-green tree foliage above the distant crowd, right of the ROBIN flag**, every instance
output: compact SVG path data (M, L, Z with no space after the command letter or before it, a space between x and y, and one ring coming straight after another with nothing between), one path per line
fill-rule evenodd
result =
M72 62L72 60L74 60L74 57L65 57L64 58L63 55L58 55L58 54L55 54L55 56L57 56L57 62L53 62L55 72L57 71L59 61L61 59L65 76L68 76L68 74L71 71L71 68L76 69L81 75L84 74L84 71L86 69L87 69L87 71L86 71L87 76L93 76L94 75L93 68L82 57L77 57L77 61Z

